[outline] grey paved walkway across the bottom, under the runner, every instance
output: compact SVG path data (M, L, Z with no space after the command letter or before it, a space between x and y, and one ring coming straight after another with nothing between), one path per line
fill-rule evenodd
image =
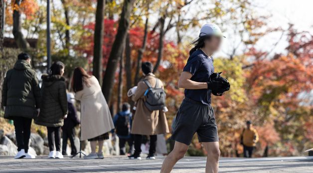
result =
M128 160L106 157L103 160L0 157L0 173L159 173L163 157L157 160ZM185 157L172 173L204 173L204 157ZM313 157L238 159L222 158L220 173L313 173Z

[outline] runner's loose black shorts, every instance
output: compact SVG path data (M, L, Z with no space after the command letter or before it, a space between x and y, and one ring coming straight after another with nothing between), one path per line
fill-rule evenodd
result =
M211 105L185 98L177 112L172 140L190 145L197 133L199 142L217 142L217 126Z

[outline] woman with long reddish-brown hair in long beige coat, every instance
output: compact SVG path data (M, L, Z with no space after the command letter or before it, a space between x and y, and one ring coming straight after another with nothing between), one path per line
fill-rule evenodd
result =
M91 153L85 159L103 159L103 142L114 129L111 113L99 81L77 67L73 75L75 98L81 102L81 141L90 141ZM96 145L98 141L98 153Z

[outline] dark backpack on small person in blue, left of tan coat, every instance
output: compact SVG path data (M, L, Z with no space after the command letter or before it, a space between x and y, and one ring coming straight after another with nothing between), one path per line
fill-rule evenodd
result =
M131 133L131 120L130 116L122 116L118 113L118 119L116 121L116 134L120 136L128 136Z

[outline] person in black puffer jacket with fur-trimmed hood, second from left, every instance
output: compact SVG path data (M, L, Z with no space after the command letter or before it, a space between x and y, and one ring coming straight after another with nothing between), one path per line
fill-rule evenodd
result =
M49 74L41 76L43 81L41 86L41 111L35 123L47 127L49 158L63 158L60 149L61 127L68 112L63 73L64 64L58 61L51 65Z

